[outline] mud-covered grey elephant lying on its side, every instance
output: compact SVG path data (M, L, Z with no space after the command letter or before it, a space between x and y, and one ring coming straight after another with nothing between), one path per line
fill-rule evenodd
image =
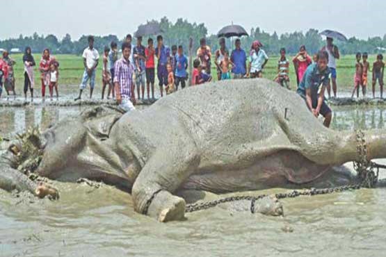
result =
M386 157L385 131L365 135L369 159ZM355 133L325 128L296 93L264 79L179 90L125 115L90 109L43 136L44 156L35 171L40 176L127 188L136 211L144 213L150 203L147 214L163 222L184 217L179 190L310 185L330 167L357 159ZM13 188L29 190L19 181Z

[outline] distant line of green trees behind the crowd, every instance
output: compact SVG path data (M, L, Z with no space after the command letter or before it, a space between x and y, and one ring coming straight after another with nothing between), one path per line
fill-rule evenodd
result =
M186 19L179 18L175 23L171 22L167 17L163 17L160 21L152 20L151 22L159 23L163 29L163 38L165 44L181 44L186 53L188 50L189 38L193 38L194 49L197 49L200 38L207 38L209 44L215 51L218 49L218 38L216 35L208 35L207 27L203 24L190 23ZM264 50L270 54L278 54L282 47L287 49L287 53L295 54L298 52L300 45L305 44L309 53L316 53L323 46L323 38L319 35L319 31L310 28L307 32L295 31L292 33L267 33L261 28L251 28L249 37L241 38L242 47L246 50L250 48L252 41L258 39L264 44ZM88 35L82 35L79 40L73 40L69 34L59 40L55 35L38 35L33 33L31 36L19 35L19 38L0 40L0 48L13 49L19 48L24 51L26 46L33 49L33 52L40 53L48 48L53 53L72 53L81 54L87 45ZM152 36L155 39L155 36ZM109 47L111 41L115 41L120 45L124 38L118 38L116 35L95 36L95 48L103 51L104 47ZM135 44L135 38L134 38ZM147 38L143 39L143 44L147 44ZM230 48L231 39L227 39L227 47ZM367 40L358 38L349 38L348 42L337 42L337 45L342 54L354 54L358 51L368 53L381 53L386 50L386 35L383 38L376 36Z

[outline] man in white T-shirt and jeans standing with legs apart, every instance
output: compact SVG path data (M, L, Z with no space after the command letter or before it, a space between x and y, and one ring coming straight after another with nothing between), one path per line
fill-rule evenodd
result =
M81 85L79 86L79 97L75 98L75 101L81 99L82 92L86 88L88 80L90 80L90 98L93 97L93 90L95 86L95 69L98 66L99 53L97 49L94 48L94 37L92 35L88 36L88 47L84 49L82 56L84 72Z

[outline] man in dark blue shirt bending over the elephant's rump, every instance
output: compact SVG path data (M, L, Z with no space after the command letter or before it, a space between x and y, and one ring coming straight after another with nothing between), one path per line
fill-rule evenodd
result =
M330 76L328 68L328 53L320 51L317 54L316 63L309 65L302 81L298 86L298 94L305 99L307 107L315 117L323 115L324 126L329 127L332 119L332 111L324 101L325 87Z

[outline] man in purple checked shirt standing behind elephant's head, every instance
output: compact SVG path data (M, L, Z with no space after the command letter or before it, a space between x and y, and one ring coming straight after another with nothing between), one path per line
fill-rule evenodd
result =
M124 42L122 44L122 57L115 62L114 87L115 98L120 108L129 112L135 110L134 104L134 66L130 63L131 44Z

